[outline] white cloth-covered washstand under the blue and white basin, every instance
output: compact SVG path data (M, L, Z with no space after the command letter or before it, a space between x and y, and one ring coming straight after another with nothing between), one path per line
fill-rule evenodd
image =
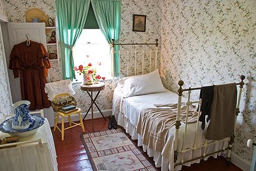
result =
M2 122L0 120L0 122ZM4 139L10 134L0 131L0 139ZM42 140L42 145L38 142L25 143L17 147L0 149L0 170L58 170L57 155L48 120L36 132L36 134L21 137L18 142Z

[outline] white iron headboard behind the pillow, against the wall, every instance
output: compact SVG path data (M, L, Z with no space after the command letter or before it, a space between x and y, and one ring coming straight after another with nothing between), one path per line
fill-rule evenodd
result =
M135 46L135 48L133 48L132 50L124 50L124 51L115 51L114 47L115 46L125 46L125 45L130 45L130 46ZM145 50L145 49L139 49L140 45L154 45L156 46L155 50L152 50L152 48L149 48L149 50ZM145 54L146 52L149 52L149 59L145 58ZM153 56L154 53L154 56ZM146 61L149 60L149 69L148 71L151 72L152 71L152 66L154 66L154 70L156 70L158 68L158 39L156 39L156 43L120 43L120 44L116 44L114 43L114 39L112 39L112 89L114 89L114 78L115 78L115 59L114 56L115 54L118 54L118 61L119 61L119 78L121 78L123 76L122 74L122 61L121 61L121 56L126 56L126 59L123 58L123 60L126 60L126 77L130 76L130 66L134 65L134 71L133 74L134 76L136 76L138 74L138 61L140 61L142 63L142 74L144 74L145 72L145 64ZM138 56L138 54L141 54L141 56ZM134 57L134 61L130 60L131 57ZM154 59L154 63L152 62L152 59ZM139 73L139 74L140 74Z

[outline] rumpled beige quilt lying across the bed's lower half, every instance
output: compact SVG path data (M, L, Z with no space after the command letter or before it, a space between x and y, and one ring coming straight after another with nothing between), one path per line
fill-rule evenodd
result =
M155 105L156 106L156 105ZM142 136L143 144L155 151L161 152L164 148L167 133L175 124L178 104L166 104L168 108L146 108L140 112L137 133ZM163 107L163 106L161 106ZM185 103L181 104L180 120L186 120ZM187 123L197 121L196 106L190 106Z

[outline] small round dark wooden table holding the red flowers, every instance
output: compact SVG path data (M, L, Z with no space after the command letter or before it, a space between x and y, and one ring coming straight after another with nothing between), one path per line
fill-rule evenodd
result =
M91 110L91 114L92 114L92 131L94 131L94 125L93 125L93 104L95 104L95 106L98 108L99 113L102 115L102 117L106 120L106 118L104 117L102 111L100 111L99 106L96 104L96 99L98 98L98 95L100 93L100 91L104 90L105 88L105 84L104 83L98 83L98 84L92 84L92 85L84 85L81 84L80 85L81 90L86 91L87 94L89 95L89 97L91 98L91 106L89 107L89 109L87 110L83 120L85 119L85 117L87 116L87 114L89 113L89 111ZM91 92L91 93L90 93ZM92 92L97 92L95 98L93 98L93 94Z

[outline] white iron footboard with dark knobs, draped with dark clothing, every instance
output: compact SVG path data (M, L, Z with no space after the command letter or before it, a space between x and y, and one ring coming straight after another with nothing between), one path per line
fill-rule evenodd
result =
M241 100L241 93L242 93L242 88L244 86L244 79L245 79L245 76L240 76L240 83L237 83L237 85L239 85L239 94L238 94L238 101L237 101L237 110L236 110L236 113L235 113L235 122L237 121L237 115L238 113L240 112L239 111L239 105L240 105L240 100ZM207 140L205 140L204 144L203 145L200 145L198 146L197 144L197 136L198 136L198 129L199 129L199 116L200 116L200 112L201 112L201 99L199 99L198 101L190 101L190 95L191 95L191 92L193 90L200 90L201 87L197 87L197 88L187 88L187 89L183 89L182 86L184 85L184 81L183 80L179 80L178 82L178 85L179 85L179 89L178 89L178 110L177 110L177 117L176 117L176 122L175 122L175 126L176 126L176 132L175 132L175 135L174 135L174 163L175 163L175 166L178 166L178 165L183 165L184 163L187 163L187 162L191 162L193 160L197 160L197 159L201 159L201 158L204 158L205 156L209 156L209 155L213 155L213 154L216 154L216 153L219 153L219 152L224 152L226 149L228 150L227 151L227 162L230 163L230 156L231 156L231 149L233 147L233 143L234 143L234 135L231 136L231 137L227 137L227 138L224 138L224 139L221 139L221 140L215 140L211 143L207 143ZM186 102L186 105L187 105L187 109L186 109L186 120L185 120L185 128L184 128L184 134L183 134L183 144L182 144L182 148L181 148L181 151L178 152L177 149L178 149L178 135L179 135L179 128L180 128L180 111L181 111L181 98L182 98L182 95L183 95L183 92L184 91L188 91L188 98L187 98L187 102ZM186 142L186 133L187 133L187 119L188 119L188 110L189 110L189 107L190 105L192 104L198 104L199 105L199 108L198 108L198 114L197 114L197 127L196 127L196 133L195 133L195 136L194 136L194 145L192 148L185 148L185 142ZM235 132L234 132L235 133ZM228 141L228 146L226 148L226 144L225 142ZM216 151L216 152L213 152L213 153L210 153L210 154L206 154L206 149L208 146L214 144L214 143L218 143L218 142L223 142L223 145L221 147L221 150L219 151ZM201 148L203 147L204 150L203 150L203 155L202 156L199 156L197 158L194 158L194 159L191 159L191 160L187 160L187 161L184 161L184 154L188 151L192 151L192 150L195 150L197 148ZM181 160L179 163L176 163L177 162L177 158L178 158L178 153L181 153Z

